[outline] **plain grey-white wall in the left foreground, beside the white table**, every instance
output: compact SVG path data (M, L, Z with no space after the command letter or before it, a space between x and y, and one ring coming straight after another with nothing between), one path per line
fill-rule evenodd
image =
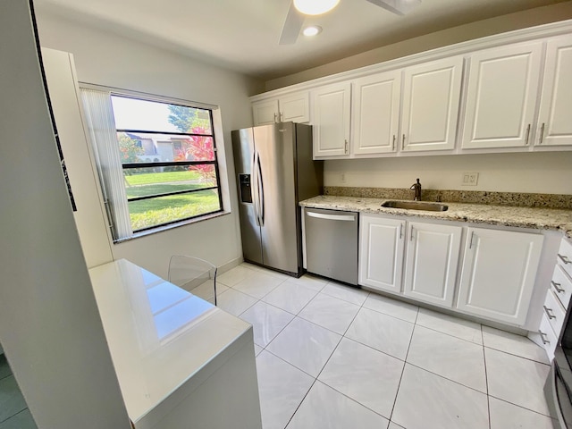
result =
M74 226L29 3L0 13L0 342L42 429L129 428Z

